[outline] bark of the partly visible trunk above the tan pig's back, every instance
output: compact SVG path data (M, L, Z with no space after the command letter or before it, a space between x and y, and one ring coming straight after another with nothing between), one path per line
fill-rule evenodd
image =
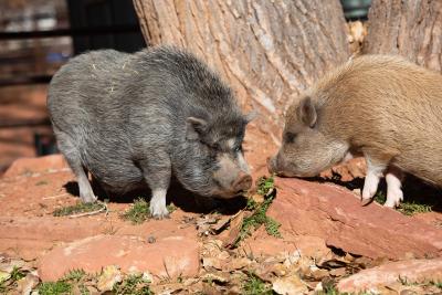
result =
M441 72L441 0L373 0L368 20L364 53L400 54Z

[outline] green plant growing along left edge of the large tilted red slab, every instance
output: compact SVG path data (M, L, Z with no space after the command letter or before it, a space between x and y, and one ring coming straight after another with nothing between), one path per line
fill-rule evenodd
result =
M275 194L271 193L273 189L273 177L261 177L257 180L257 193L264 196L264 201L262 203L257 203L253 199L248 200L246 210L253 211L253 213L252 215L244 218L234 245L238 245L241 241L248 238L253 230L256 230L262 224L264 224L265 231L270 235L281 238L281 223L266 215L269 207L275 198Z

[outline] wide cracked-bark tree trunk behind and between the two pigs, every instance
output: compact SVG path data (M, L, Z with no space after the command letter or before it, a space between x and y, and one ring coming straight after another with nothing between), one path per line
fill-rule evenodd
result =
M256 109L261 131L280 141L283 113L328 69L349 57L338 0L134 0L145 39L206 60Z

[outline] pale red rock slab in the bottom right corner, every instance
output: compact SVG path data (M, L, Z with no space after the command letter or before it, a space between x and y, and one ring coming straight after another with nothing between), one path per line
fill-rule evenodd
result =
M442 259L390 262L344 278L337 287L340 292L358 293L393 285L399 277L409 283L442 282Z

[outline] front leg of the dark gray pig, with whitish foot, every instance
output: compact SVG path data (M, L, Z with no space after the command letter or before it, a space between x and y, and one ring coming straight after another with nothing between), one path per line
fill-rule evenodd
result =
M155 219L169 217L166 207L166 194L171 177L171 166L168 156L145 160L141 164L144 178L151 189L150 214Z

